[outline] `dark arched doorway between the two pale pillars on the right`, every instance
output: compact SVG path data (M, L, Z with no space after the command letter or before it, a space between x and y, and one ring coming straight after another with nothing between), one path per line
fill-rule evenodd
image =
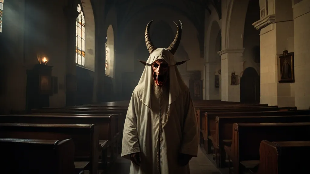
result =
M240 102L259 103L260 77L253 67L244 70L240 79Z

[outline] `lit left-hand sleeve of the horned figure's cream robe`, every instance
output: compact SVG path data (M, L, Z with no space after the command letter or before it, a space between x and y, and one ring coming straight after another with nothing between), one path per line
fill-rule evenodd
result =
M129 102L123 131L121 156L126 159L129 159L129 154L140 152L136 117L137 99L138 98L136 97L136 93L134 91Z

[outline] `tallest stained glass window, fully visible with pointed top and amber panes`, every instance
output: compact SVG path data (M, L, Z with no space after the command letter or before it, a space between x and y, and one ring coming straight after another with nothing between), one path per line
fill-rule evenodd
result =
M85 66L85 18L78 4L79 15L76 21L75 63Z

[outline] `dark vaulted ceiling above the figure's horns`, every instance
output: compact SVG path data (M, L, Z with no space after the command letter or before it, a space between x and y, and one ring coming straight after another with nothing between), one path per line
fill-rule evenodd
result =
M220 14L220 0L106 0L106 13L114 6L117 11L117 26L123 28L132 18L151 8L167 7L184 15L190 20L197 32L203 52L205 11L211 13L209 5L213 5Z

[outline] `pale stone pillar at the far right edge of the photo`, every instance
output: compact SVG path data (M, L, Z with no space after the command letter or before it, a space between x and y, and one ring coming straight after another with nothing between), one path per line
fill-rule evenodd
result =
M310 106L310 0L294 1L295 106ZM298 3L297 3L298 2Z

